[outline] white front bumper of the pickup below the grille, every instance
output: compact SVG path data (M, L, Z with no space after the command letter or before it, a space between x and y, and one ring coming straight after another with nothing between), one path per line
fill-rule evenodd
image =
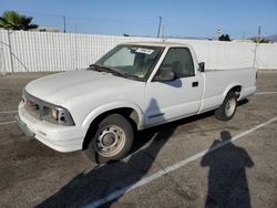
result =
M62 153L82 149L86 133L76 126L60 126L40 121L25 111L23 102L19 104L18 124L28 136L34 136L44 145Z

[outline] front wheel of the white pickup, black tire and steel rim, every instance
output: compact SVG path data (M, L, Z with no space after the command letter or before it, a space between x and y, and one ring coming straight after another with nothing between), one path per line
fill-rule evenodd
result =
M134 132L129 121L120 114L106 116L92 135L86 149L88 157L103 164L124 158L130 152Z

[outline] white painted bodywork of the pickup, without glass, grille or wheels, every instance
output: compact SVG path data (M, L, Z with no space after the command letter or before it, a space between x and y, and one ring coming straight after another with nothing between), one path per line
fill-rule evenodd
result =
M132 44L132 43L130 43ZM66 108L74 126L60 126L40 121L19 105L19 118L35 138L59 152L82 149L90 124L101 114L130 107L138 117L137 128L146 128L217 108L234 86L242 86L239 100L256 91L256 69L198 71L198 61L189 45L177 43L135 43L164 46L146 82L119 77L110 73L80 70L45 76L30 82L25 91L39 100ZM167 50L189 49L195 75L171 83L153 82ZM197 82L196 87L192 84Z

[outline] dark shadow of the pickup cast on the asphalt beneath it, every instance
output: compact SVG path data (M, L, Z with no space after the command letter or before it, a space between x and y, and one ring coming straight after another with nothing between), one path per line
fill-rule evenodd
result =
M152 101L152 107L153 105L158 107L154 100ZM100 165L89 173L76 175L38 207L84 207L112 193L126 190L127 187L132 187L151 171L160 150L172 137L177 126L213 115L214 112L208 112L137 132L134 146L127 158L107 165ZM120 193L104 207L110 207L124 194L125 191Z

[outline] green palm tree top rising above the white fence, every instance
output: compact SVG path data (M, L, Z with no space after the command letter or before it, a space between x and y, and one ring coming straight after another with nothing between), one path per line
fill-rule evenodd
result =
M21 15L16 11L6 11L0 17L0 28L7 30L30 30L38 28L38 24L31 23L31 17Z

